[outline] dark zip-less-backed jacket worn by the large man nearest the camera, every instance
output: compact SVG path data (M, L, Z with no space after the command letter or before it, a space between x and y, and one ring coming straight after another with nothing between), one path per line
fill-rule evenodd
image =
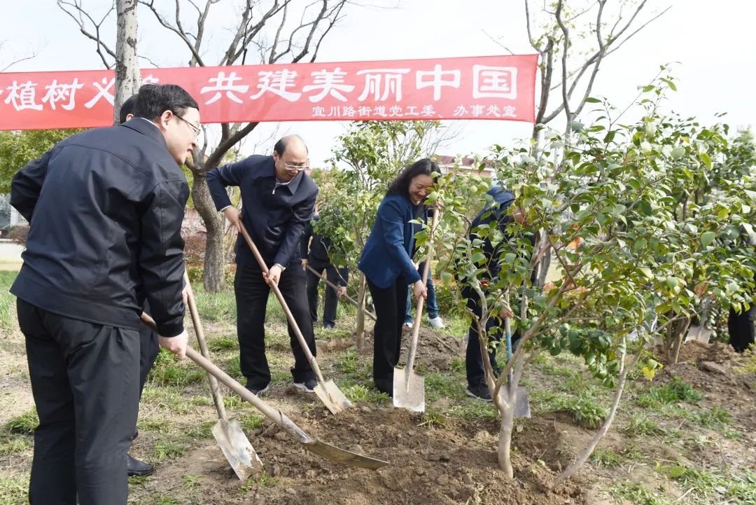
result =
M11 205L29 223L11 293L45 310L158 333L184 330L181 221L189 187L160 130L134 118L61 141L25 166Z

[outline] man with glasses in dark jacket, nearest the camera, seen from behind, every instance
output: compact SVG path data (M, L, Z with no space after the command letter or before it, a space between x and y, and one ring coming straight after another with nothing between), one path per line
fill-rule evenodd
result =
M24 167L11 204L29 220L11 293L39 426L29 502L125 504L139 401L145 293L160 345L183 358L179 168L197 147L197 102L145 85L135 118L60 142Z

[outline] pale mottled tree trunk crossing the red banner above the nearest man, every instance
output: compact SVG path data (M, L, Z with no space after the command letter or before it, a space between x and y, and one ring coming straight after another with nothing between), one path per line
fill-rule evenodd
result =
M116 15L116 93L113 98L113 124L119 123L121 106L139 89L141 76L137 61L137 0L117 0Z

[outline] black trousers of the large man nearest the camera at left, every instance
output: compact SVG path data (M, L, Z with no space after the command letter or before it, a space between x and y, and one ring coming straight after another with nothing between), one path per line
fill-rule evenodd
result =
M139 406L139 333L17 301L39 426L32 505L125 505Z

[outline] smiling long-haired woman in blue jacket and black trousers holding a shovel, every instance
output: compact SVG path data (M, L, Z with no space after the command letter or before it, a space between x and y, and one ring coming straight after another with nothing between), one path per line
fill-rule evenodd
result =
M392 395L394 367L401 349L407 285L414 284L416 298L426 297L426 287L410 256L414 243L411 221L430 193L432 172L439 172L438 165L425 158L402 170L392 182L378 207L358 265L367 277L376 309L373 382L388 395Z

